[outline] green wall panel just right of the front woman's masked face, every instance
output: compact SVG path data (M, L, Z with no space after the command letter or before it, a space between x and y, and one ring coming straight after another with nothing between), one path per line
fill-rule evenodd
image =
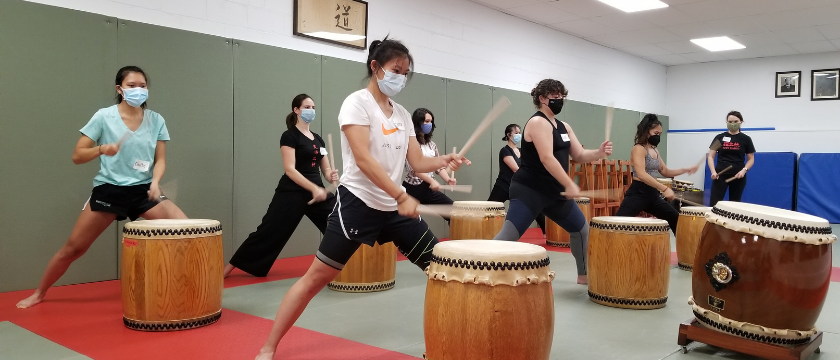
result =
M417 108L424 107L435 114L436 128L435 132L432 133L432 141L437 144L441 154L452 151L452 146L447 147L446 144L448 124L446 117L446 79L426 74L414 74L405 89L394 97L394 101L405 107L409 113L414 113ZM435 178L438 182L443 183L439 177L436 176ZM458 178L457 174L455 178ZM444 193L449 197L452 197L453 194L449 191ZM449 236L446 221L440 216L424 216L423 219L429 224L435 236L439 238Z

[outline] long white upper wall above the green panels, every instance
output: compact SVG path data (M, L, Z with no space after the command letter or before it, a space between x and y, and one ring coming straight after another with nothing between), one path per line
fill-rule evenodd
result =
M126 20L364 62L367 51L292 36L292 0L34 0ZM369 41L403 40L416 71L530 91L552 77L570 98L662 113L665 67L467 0L369 0Z

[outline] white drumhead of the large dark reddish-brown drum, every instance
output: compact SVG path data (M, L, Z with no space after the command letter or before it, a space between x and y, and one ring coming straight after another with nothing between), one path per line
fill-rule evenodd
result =
M764 205L720 201L708 219L729 230L781 241L820 245L837 240L828 220Z

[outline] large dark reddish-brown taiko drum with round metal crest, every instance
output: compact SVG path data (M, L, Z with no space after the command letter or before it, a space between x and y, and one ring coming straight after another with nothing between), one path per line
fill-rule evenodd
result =
M795 346L816 334L831 276L825 219L739 202L708 216L692 271L698 322L734 336Z

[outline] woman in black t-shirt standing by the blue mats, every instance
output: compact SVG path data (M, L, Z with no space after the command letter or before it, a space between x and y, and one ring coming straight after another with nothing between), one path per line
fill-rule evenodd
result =
M711 206L723 200L727 188L729 188L729 201L741 201L741 195L747 187L747 171L755 164L755 147L752 139L741 132L743 123L744 117L740 112L730 111L726 115L726 127L729 131L718 134L712 141L707 157L709 170L712 173ZM720 142L719 150L714 150L716 142ZM717 166L715 166L715 155L718 155ZM730 165L732 169L727 170L726 175L718 175L718 171ZM735 180L727 183L726 179L731 178L732 174L735 174Z

